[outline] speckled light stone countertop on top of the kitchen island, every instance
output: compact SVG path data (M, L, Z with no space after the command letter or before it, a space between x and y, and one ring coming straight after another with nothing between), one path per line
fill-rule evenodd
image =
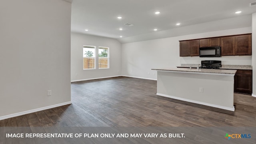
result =
M222 70L222 69L152 68L151 70L166 71L166 72L197 73L197 74L218 74L218 75L235 75L236 74L236 70Z

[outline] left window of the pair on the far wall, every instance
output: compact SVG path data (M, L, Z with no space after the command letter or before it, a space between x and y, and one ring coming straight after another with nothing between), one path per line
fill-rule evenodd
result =
M84 70L95 69L95 46L84 46L83 57L84 57Z

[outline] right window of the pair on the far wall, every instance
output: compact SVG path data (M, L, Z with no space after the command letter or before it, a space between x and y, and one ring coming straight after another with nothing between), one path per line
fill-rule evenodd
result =
M109 68L109 48L99 46L99 69L100 68Z

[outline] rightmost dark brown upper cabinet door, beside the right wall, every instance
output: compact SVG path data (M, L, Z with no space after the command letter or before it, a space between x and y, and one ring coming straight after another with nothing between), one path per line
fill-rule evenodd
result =
M251 35L236 36L236 55L252 55Z

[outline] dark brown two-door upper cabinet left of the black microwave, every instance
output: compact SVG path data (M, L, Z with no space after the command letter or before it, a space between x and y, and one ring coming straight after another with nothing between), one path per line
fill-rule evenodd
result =
M199 40L180 41L180 56L199 56Z

